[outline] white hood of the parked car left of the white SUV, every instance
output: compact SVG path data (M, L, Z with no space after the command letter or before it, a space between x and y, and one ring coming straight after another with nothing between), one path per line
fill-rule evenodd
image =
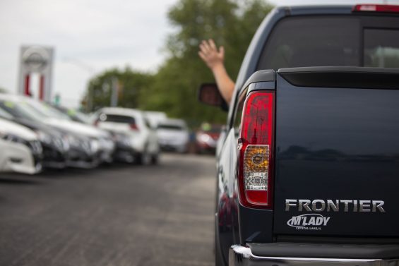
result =
M85 125L83 123L78 123L75 121L68 121L62 119L46 119L44 123L47 125L54 126L56 128L61 128L66 131L77 133L79 135L86 135L89 137L107 137L105 131L101 131L94 126Z

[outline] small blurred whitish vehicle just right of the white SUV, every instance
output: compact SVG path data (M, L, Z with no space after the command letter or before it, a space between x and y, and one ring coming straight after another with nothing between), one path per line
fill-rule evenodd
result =
M162 150L187 152L190 135L184 120L166 119L158 123L157 135Z

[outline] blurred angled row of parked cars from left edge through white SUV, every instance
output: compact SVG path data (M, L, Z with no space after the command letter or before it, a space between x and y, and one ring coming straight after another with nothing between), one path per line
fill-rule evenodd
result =
M71 117L75 119L72 119ZM104 108L94 115L0 94L0 171L90 169L113 161L157 163L160 146L145 112Z

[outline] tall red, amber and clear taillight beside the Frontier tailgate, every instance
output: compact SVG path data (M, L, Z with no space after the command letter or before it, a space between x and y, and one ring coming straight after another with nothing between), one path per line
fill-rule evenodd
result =
M239 199L273 206L274 92L252 92L244 103L239 147Z

